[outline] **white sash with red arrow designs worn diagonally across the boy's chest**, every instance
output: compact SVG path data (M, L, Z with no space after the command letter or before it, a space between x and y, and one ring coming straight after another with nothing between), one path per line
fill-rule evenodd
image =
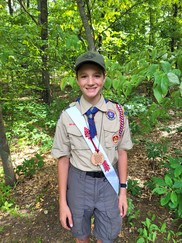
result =
M83 117L83 115L80 113L78 108L76 106L72 106L68 109L66 109L66 112L70 116L70 118L74 121L78 129L80 130L81 134L83 135L86 143L88 144L90 150L93 154L95 154L95 147L99 148L100 153L104 156L103 162L99 163L99 166L101 167L105 177L115 190L115 192L118 194L119 192L119 178L116 174L116 171L114 170L111 162L109 161L109 158L107 154L105 153L104 149L102 148L101 144L99 143L97 137L90 139L90 137L87 135L88 126L87 123Z

